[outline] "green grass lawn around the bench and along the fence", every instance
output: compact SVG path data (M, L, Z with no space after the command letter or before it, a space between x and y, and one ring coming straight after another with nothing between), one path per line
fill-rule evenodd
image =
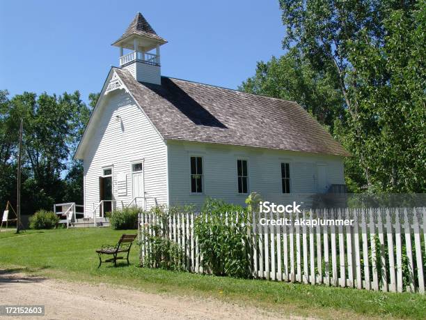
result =
M203 296L258 306L283 315L320 318L425 319L426 298L419 294L390 294L366 290L241 280L212 275L139 268L138 246L131 266L97 268L95 249L116 244L123 233L109 228L58 229L0 233L0 268L70 281L105 282L152 293Z

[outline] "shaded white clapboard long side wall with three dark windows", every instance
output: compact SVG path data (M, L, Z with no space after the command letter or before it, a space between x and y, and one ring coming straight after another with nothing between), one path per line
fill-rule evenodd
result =
M203 194L191 194L189 157L203 157ZM237 159L248 160L248 193L255 191L266 201L303 201L294 194L316 192L317 164L326 165L328 185L345 183L343 158L332 155L275 151L261 148L168 142L169 202L201 206L208 195L230 203L244 204L247 195L237 189ZM283 195L281 162L290 163L290 195Z

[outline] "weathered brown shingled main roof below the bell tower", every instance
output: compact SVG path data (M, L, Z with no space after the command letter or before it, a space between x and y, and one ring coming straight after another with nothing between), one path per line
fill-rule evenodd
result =
M350 155L296 102L113 68L164 139Z

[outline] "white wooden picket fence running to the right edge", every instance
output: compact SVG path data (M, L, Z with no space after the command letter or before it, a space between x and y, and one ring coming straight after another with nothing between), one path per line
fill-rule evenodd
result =
M143 234L159 232L152 228L156 224L161 234L182 248L184 268L194 273L208 273L203 270L203 257L194 235L196 215L169 213L166 220L159 221L154 213L141 213L141 261L150 250ZM252 221L260 218L265 215L253 213ZM253 277L425 294L426 208L317 210L292 218L346 218L354 223L352 226L319 227L252 224L250 257ZM228 219L226 223L244 224Z

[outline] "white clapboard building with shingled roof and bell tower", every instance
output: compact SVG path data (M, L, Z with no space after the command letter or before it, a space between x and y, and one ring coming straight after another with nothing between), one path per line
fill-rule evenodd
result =
M111 68L76 159L84 213L137 204L283 203L344 185L342 146L297 102L161 75L167 41L138 13ZM226 76L226 75L225 75Z

